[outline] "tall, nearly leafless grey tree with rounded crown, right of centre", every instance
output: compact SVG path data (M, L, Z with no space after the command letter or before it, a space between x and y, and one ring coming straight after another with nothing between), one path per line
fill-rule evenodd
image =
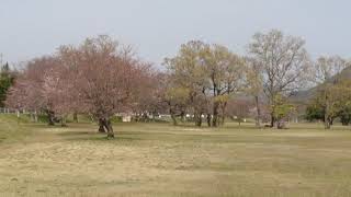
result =
M303 86L308 73L308 55L305 42L299 37L285 36L280 31L257 33L249 45L250 57L262 68L263 91L271 109L271 126L275 124L275 97L290 96Z

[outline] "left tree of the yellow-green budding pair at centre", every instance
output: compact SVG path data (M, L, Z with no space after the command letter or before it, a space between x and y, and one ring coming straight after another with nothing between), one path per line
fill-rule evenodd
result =
M194 114L196 126L202 125L202 115L206 112L206 89L208 82L205 78L205 65L203 51L206 44L193 40L181 46L180 51L173 58L167 58L165 65L168 68L169 80L173 86L169 86L169 99L177 102L178 108L185 111L186 106ZM174 105L174 104L173 104ZM173 111L176 108L173 107ZM185 115L185 112L181 112Z

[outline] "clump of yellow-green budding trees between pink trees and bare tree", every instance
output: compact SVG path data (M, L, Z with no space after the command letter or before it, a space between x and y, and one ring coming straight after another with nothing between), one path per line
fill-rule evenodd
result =
M206 115L208 126L217 127L219 113L224 118L229 96L244 85L244 59L224 46L190 42L182 45L178 56L167 58L165 63L173 120L179 107L180 114L190 109L197 126Z

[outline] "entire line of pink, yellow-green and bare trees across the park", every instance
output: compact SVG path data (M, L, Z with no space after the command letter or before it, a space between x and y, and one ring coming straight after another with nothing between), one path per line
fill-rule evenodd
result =
M111 117L116 113L168 113L174 125L190 114L196 126L205 121L210 127L220 126L228 116L253 116L257 126L269 119L270 127L284 128L295 111L290 97L299 90L314 85L324 90L318 102L325 102L320 106L326 124L335 106L328 95L336 95L341 85L342 101L333 99L350 102L348 80L335 80L349 67L347 60L321 57L314 62L302 38L275 30L254 34L245 56L192 40L163 66L166 71L155 69L109 36L88 38L29 61L7 105L45 112L50 124L57 116L65 121L68 114L89 114L100 131L114 137Z

